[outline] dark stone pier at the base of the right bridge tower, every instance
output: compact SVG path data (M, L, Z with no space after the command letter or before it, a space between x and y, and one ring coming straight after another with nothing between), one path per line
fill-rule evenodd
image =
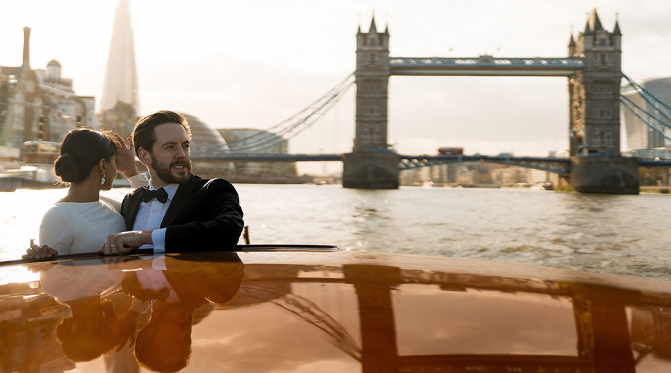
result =
M638 194L638 158L573 156L569 180L580 193Z

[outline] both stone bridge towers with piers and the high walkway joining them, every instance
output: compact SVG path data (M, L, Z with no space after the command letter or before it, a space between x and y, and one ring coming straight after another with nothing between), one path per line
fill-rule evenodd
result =
M621 39L601 25L596 9L567 57L389 57L389 28L356 35L356 133L343 156L346 188L398 188L398 154L387 142L389 77L556 76L569 80L569 162L561 168L583 193L638 193L638 161L620 155Z

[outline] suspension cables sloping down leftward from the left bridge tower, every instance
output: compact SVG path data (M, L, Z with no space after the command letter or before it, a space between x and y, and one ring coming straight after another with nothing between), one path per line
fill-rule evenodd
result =
M291 137L309 128L324 113L327 113L354 82L354 74L351 73L318 100L279 124L253 135L228 142L226 145L210 146L206 148L206 151L214 153L258 153L287 142Z

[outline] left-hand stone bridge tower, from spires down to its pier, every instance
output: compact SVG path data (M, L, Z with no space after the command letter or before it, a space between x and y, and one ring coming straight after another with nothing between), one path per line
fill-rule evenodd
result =
M356 33L356 131L352 153L344 155L342 186L398 188L400 158L387 143L389 29Z

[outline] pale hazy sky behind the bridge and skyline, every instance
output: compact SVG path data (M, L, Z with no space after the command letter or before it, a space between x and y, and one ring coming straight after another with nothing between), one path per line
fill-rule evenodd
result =
M75 92L98 104L118 0L8 1L0 66L57 59ZM389 24L392 57L565 57L571 25L583 30L593 0L209 1L131 0L142 115L170 109L215 128L268 128L353 72L356 30L375 10ZM671 1L597 1L623 33L623 72L671 75ZM568 146L562 77L391 77L389 142L400 153L546 155ZM294 137L293 153L351 151L354 94Z

